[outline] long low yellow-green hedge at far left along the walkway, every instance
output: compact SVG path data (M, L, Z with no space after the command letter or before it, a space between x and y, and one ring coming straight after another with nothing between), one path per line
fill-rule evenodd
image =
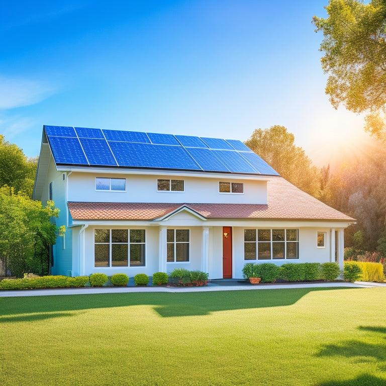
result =
M88 276L41 276L22 279L4 279L0 289L71 288L84 287Z

